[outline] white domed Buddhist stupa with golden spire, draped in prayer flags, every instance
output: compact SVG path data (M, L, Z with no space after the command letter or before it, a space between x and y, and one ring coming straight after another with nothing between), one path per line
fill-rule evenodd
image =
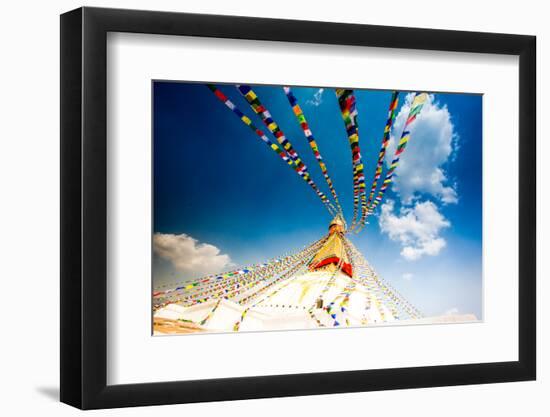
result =
M326 236L297 254L156 292L154 305L160 334L425 321L377 276L339 217Z

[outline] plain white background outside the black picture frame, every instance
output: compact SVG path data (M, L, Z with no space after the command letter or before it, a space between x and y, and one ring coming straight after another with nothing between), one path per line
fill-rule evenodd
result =
M73 415L59 392L59 14L73 0L5 2L0 17L0 410L6 415ZM547 415L550 405L550 166L542 166L549 134L550 26L544 2L392 0L92 1L86 5L311 19L440 29L509 32L538 37L538 381L497 385L324 395L98 411L99 415ZM9 414L8 414L9 413Z

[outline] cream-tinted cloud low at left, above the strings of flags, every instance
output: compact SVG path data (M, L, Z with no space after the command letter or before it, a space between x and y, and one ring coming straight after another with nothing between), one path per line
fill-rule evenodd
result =
M155 233L154 252L172 263L175 269L190 274L214 274L233 266L229 255L208 243L199 243L186 234Z

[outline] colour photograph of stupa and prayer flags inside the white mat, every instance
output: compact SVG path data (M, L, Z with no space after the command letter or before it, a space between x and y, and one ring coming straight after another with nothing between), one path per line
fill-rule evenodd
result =
M151 88L153 335L483 321L482 94Z

